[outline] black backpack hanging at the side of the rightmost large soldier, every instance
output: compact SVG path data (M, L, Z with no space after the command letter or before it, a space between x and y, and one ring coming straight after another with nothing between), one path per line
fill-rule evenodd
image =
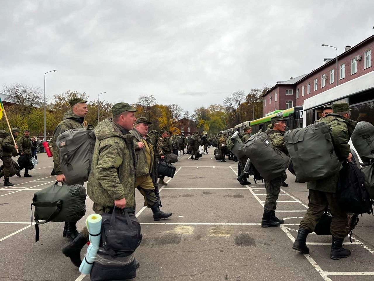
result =
M374 203L367 192L367 182L361 170L354 161L344 161L340 170L337 201L339 206L346 212L354 214L372 214Z

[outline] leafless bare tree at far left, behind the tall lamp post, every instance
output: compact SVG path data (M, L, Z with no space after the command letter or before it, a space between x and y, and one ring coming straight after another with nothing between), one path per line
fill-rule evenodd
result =
M43 105L43 93L40 87L23 83L4 84L3 93L8 95L5 101L22 106L23 114L29 114L33 108Z

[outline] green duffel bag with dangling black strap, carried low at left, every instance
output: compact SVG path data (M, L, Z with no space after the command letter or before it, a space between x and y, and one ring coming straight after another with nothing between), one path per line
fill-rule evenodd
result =
M83 185L62 184L61 186L58 182L34 193L31 217L35 206L35 242L39 240L39 224L49 221L79 221L86 213L86 196L86 188Z

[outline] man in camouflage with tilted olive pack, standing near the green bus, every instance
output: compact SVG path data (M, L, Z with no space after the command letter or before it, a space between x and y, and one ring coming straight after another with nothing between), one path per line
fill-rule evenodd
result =
M288 155L288 151L284 142L284 133L287 127L286 119L283 117L273 117L271 119L273 129L267 128L265 133L269 136L273 145L279 150ZM264 214L261 221L262 227L279 226L284 221L275 216L275 209L279 191L281 191L281 184L287 178L286 172L271 181L265 181L266 199L264 204Z

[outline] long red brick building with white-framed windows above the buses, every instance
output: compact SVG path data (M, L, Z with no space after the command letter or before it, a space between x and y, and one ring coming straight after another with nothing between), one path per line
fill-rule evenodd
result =
M330 47L328 47L330 48ZM264 116L277 109L303 106L304 100L338 85L351 81L371 71L371 50L374 49L374 35L356 46L346 46L343 54L336 58L325 58L325 64L308 74L279 81L263 94Z

